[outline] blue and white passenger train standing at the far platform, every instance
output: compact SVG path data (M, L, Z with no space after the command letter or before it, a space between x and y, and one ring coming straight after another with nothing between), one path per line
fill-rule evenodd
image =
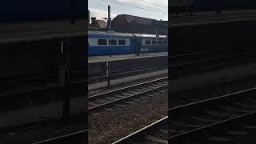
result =
M89 56L167 52L166 35L88 31Z

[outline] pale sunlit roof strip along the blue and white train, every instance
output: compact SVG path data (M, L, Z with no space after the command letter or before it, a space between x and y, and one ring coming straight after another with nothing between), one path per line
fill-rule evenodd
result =
M88 34L95 34L95 35L110 35L107 33L107 31L88 31ZM133 37L134 35L136 37L140 38L156 38L156 34L130 34L130 33L119 33L119 32L114 32L112 34L114 36L122 36L122 37ZM166 35L159 35L159 38L166 38Z

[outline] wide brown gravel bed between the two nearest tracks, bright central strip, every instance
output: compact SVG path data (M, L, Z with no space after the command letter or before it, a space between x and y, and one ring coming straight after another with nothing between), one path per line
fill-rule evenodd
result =
M135 98L89 116L89 143L111 143L167 115L168 90Z

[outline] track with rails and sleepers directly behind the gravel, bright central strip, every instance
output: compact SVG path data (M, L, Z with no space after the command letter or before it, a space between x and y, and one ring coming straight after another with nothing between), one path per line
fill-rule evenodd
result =
M96 94L88 98L88 110L95 112L118 104L126 102L130 99L138 98L140 96L153 96L152 93L158 94L158 90L167 90L167 77L158 78L149 82L142 82L133 86L126 86L118 90L112 90L102 94ZM128 102L129 103L129 102ZM118 105L123 106L123 105Z

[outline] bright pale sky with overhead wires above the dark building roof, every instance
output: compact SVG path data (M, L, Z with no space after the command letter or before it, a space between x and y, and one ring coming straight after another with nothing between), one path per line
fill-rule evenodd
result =
M90 18L107 18L107 6L111 6L111 18L118 14L130 14L144 18L168 20L168 0L88 0ZM106 21L106 20L105 20Z

